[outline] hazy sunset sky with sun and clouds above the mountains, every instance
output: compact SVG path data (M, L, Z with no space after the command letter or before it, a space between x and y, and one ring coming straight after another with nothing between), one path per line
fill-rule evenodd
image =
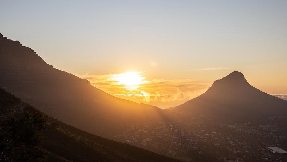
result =
M120 98L177 106L240 71L287 100L287 1L0 1L0 33Z

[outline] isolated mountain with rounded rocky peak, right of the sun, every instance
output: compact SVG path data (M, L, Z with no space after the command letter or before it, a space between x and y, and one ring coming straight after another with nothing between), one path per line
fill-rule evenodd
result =
M287 115L287 101L256 89L241 72L234 71L214 81L205 93L174 107L174 110L237 121L259 121Z

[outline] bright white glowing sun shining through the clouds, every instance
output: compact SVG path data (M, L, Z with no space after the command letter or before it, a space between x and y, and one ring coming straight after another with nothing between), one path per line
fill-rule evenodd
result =
M117 81L118 85L126 85L126 89L134 90L137 89L137 85L144 84L146 81L145 77L139 75L140 72L127 72L121 74L114 74L112 79Z

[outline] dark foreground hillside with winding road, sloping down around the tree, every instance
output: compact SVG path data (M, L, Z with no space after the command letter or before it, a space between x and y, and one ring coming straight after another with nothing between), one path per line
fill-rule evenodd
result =
M12 103L10 101L15 102ZM7 105L7 102L10 104ZM43 138L41 145L48 157L47 161L178 161L129 144L108 140L62 123L45 115L29 104L23 104L19 98L0 89L0 105L6 105L13 109L18 104L24 106L22 112L13 114L16 118L21 118L25 112L29 112L29 114L39 114L46 120L46 129L42 129L40 135ZM3 108L0 107L0 111ZM0 116L0 121L5 118ZM24 122L21 123L24 124ZM3 125L0 125L1 128L3 128ZM1 131L1 137L3 137L3 133L4 135L5 133L9 134L9 132ZM20 135L24 136L27 134L23 133ZM7 139L11 140L11 138ZM1 148L7 148L5 146L7 141L2 140L3 138L0 138ZM1 156L0 161L3 160Z

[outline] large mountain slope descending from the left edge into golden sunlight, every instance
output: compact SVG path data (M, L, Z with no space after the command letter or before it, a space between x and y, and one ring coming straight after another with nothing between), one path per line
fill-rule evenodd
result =
M112 96L53 68L31 48L0 34L0 87L67 124L106 136L144 121L168 121L157 107Z

